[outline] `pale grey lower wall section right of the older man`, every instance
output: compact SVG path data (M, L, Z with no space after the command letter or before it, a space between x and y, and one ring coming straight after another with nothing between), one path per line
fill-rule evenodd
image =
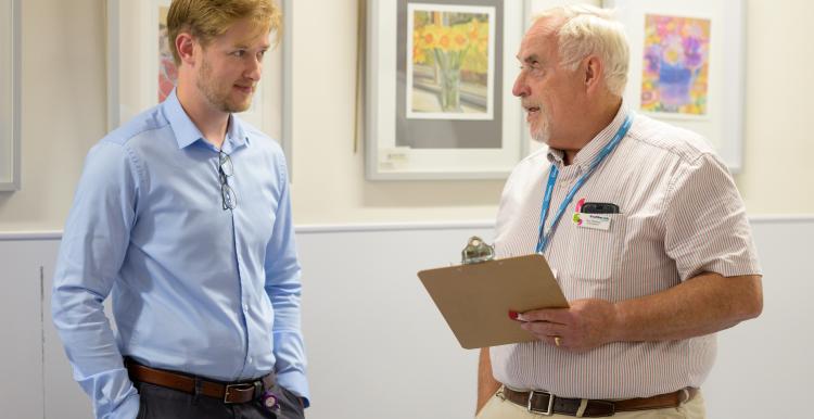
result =
M814 377L812 220L752 221L763 314L718 333L704 383L710 418L803 418ZM802 404L802 405L801 405Z

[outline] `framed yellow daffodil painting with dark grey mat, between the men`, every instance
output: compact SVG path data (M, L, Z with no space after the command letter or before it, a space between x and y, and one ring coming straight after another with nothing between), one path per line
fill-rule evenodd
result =
M505 178L527 152L511 94L524 2L367 1L367 177Z

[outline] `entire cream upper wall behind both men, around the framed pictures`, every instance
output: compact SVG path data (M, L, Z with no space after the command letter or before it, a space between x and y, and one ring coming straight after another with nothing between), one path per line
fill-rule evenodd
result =
M105 132L104 1L21 3L23 190L0 193L0 231L59 230L84 156ZM356 8L357 0L294 2L294 219L493 218L500 181L365 180L364 149L353 152ZM814 214L814 193L800 193L814 177L814 85L801 76L814 67L811 16L811 1L747 0L746 160L736 179L752 215Z

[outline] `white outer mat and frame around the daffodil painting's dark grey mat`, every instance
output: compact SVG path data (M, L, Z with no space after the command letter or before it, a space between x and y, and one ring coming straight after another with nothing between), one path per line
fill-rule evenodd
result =
M514 54L522 37L523 3L504 2L504 61L500 91L504 104L501 149L410 149L396 148L396 48L397 2L368 2L367 66L367 152L368 178L394 179L499 179L527 150L522 141L520 101L511 94L518 74ZM399 153L407 162L403 167L380 167L383 153Z

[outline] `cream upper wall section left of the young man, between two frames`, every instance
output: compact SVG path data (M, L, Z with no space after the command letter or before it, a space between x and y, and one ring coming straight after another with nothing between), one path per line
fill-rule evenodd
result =
M0 192L0 231L56 230L104 134L103 1L20 4L22 190Z

